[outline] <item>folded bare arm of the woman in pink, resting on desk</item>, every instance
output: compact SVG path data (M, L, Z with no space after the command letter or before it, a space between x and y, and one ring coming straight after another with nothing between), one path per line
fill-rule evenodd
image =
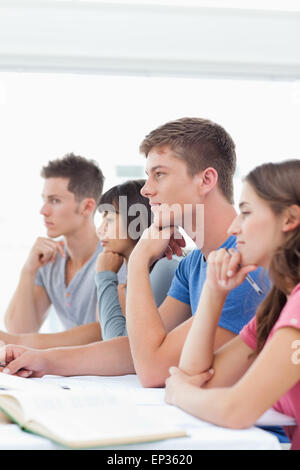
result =
M243 347L243 340L237 338L234 348L226 345L223 352L216 354L213 379L201 389L189 384L178 387L173 404L220 426L252 426L300 380L299 364L292 361L291 345L296 340L299 330L281 328L247 368L246 357L251 348ZM234 359L239 354L242 359ZM238 379L239 375L242 376Z

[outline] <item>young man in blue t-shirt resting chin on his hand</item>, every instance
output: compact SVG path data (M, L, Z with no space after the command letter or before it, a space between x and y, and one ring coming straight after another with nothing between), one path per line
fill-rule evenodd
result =
M235 145L219 125L197 118L169 122L142 142L154 223L133 250L128 264L127 331L133 363L146 387L164 385L169 367L180 353L196 312L206 277L206 259L218 248L235 248L227 229L236 217L233 207ZM198 217L199 213L203 217ZM165 253L181 254L183 227L198 249L181 261L168 296L158 309L149 281L149 265ZM264 294L268 281L259 271L251 277ZM245 281L225 303L215 349L232 339L255 314L264 295ZM201 341L201 338L199 338Z

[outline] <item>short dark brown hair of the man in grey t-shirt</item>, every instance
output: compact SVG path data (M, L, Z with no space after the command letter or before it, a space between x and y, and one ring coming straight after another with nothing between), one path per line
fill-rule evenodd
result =
M77 201L91 197L99 204L104 176L94 160L68 153L63 158L48 162L41 171L43 178L69 178L68 190Z

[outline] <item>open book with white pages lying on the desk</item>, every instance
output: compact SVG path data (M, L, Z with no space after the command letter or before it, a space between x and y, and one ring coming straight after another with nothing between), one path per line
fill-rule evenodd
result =
M151 407L126 406L112 390L72 390L0 373L0 409L22 429L69 448L149 442L186 433L155 418Z

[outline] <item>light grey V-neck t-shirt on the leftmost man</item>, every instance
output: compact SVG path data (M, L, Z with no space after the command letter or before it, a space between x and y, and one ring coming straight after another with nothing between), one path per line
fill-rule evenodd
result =
M66 286L66 262L59 254L54 263L48 263L38 270L35 284L44 287L48 297L65 329L96 321L97 291L94 281L95 263L103 250L99 243L93 256L75 274ZM119 282L126 279L126 268L119 271Z

